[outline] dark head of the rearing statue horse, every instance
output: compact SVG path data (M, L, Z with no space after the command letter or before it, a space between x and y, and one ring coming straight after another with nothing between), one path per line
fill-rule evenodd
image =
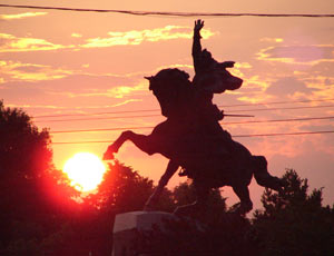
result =
M156 76L145 78L159 101L161 114L165 117L177 115L189 97L189 75L179 69L163 69Z

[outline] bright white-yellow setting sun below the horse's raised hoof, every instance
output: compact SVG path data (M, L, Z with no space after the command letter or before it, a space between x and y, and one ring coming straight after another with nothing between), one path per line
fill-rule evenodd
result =
M77 190L91 191L102 181L106 166L91 152L78 152L66 161L63 173Z

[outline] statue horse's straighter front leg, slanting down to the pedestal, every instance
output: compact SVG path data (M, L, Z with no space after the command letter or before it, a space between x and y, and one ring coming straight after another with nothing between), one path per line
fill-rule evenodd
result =
M154 210L155 206L157 205L161 193L164 191L165 186L168 184L171 176L177 171L178 164L173 160L169 160L167 169L165 174L161 176L159 184L151 196L148 198L144 206L144 210Z

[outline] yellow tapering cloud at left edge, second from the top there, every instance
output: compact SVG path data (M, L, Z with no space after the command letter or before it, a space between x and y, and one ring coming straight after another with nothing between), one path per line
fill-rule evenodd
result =
M39 38L20 38L9 33L0 33L0 52L46 51L75 48L73 45L55 45Z

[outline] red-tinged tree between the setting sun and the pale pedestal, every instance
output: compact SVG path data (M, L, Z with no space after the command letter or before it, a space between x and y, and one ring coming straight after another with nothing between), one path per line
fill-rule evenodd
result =
M97 193L84 198L85 216L75 225L75 230L81 234L76 245L87 254L110 254L115 216L143 210L147 198L154 191L153 180L141 177L132 168L117 160L108 167Z

